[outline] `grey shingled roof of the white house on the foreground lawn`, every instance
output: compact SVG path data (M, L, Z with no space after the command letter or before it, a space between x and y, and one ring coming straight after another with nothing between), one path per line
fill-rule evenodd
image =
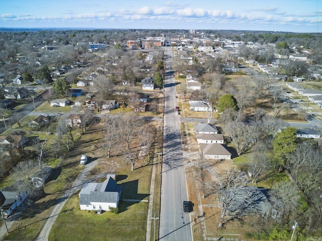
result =
M90 205L91 202L116 203L121 193L121 186L109 177L103 183L88 183L79 192L79 205Z

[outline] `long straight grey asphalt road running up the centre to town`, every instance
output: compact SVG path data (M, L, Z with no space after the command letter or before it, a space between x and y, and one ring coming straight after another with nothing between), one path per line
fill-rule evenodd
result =
M171 47L166 50L164 148L162 165L160 240L192 240L190 214L183 212L188 190L183 160L180 121L174 81Z

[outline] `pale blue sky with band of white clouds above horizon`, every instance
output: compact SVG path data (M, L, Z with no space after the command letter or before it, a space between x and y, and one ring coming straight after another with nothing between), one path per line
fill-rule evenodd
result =
M0 0L0 27L322 32L322 0Z

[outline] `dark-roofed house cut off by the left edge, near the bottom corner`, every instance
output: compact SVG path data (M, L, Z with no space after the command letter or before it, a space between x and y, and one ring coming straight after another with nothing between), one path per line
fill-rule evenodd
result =
M0 190L0 206L3 213L9 216L16 207L19 207L27 198L29 191L17 191L14 187L5 187Z

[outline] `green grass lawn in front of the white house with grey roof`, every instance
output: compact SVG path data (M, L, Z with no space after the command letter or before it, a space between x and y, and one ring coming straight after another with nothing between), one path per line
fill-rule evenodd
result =
M120 212L79 210L73 195L59 214L48 240L145 240L147 202L120 202Z

